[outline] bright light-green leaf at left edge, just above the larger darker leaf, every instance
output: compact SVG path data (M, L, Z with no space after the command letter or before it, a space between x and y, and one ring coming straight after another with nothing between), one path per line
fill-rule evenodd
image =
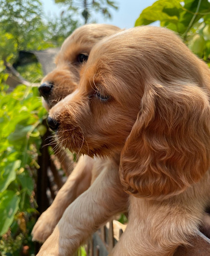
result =
M0 192L3 192L9 184L16 178L16 169L20 166L20 160L7 164L1 167L0 171Z

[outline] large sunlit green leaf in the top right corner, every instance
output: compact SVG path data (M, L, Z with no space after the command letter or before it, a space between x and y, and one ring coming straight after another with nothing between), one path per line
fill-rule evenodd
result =
M185 36L189 29L209 11L208 0L159 0L142 11L135 26L149 25L159 20L162 27Z

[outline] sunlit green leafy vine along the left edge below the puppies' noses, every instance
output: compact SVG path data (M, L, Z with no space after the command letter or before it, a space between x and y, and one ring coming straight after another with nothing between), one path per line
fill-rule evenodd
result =
M41 132L44 132L41 123L46 114L37 97L37 88L20 85L13 92L6 93L5 78L6 75L1 74L0 235L7 232L7 239L4 236L0 241L2 255L5 244L15 246L21 236L29 237L31 231L26 226L26 220L30 223L33 218L31 213L36 206L33 189L36 169L39 167L37 156L40 137L43 135ZM18 253L13 252L12 255Z

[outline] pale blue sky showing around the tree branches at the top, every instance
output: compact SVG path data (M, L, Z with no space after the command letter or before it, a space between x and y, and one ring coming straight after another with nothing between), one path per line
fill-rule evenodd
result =
M114 0L115 3L118 3L119 9L115 11L110 8L112 19L105 19L100 14L97 14L95 19L97 23L111 24L122 29L132 28L142 10L151 6L155 1L156 0ZM60 8L58 4L55 4L54 0L41 0L41 2L43 3L44 12L48 16L58 16L65 10L64 8Z

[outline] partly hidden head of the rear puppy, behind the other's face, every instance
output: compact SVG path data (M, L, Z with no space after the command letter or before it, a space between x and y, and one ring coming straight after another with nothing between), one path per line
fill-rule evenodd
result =
M65 39L55 60L56 69L42 79L39 87L47 110L78 87L79 72L92 47L119 30L112 25L89 24L76 29Z

